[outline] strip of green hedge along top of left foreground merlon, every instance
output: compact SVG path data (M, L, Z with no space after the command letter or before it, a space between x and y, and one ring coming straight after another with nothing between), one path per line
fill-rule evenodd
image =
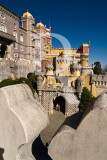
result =
M30 80L27 79L27 78L20 78L20 79L16 79L16 80L5 79L5 80L0 82L0 88L5 87L5 86L9 86L9 85L21 84L21 83L26 83L31 88L32 93L34 95L35 89L33 88Z

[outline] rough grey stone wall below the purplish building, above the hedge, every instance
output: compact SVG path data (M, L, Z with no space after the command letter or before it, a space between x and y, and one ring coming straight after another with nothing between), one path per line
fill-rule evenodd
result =
M10 78L13 73L15 78L25 77L27 74L35 71L35 65L29 60L18 60L15 62L11 59L0 59L0 81Z

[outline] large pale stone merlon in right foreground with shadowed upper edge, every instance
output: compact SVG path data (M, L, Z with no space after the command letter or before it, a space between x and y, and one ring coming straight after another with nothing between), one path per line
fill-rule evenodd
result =
M97 97L81 117L69 117L49 145L53 160L107 159L107 93ZM81 119L82 118L82 119Z

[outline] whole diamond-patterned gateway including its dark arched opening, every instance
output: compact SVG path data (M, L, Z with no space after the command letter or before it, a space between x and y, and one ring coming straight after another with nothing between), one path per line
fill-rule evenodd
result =
M58 104L60 111L65 116L70 116L78 112L79 101L74 93L64 93L55 91L41 91L41 104L49 114L53 114L54 108Z

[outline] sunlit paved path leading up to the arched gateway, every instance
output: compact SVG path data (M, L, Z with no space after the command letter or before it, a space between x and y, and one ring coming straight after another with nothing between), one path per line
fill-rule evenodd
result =
M40 134L44 145L52 140L52 137L64 121L64 114L54 110L54 113L49 116L49 125Z

